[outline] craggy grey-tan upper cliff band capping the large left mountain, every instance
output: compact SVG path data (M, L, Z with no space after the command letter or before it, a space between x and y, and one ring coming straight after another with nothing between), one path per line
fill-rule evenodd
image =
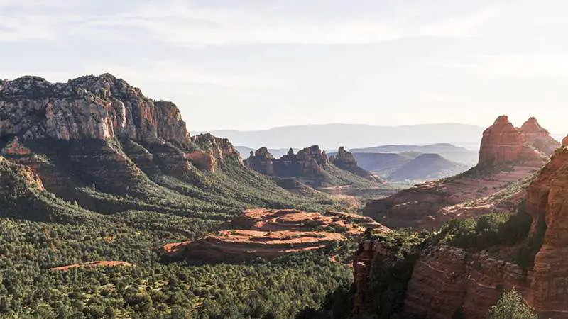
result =
M189 134L180 111L154 102L111 74L67 83L21 77L0 87L0 136L23 140L130 138L185 145Z

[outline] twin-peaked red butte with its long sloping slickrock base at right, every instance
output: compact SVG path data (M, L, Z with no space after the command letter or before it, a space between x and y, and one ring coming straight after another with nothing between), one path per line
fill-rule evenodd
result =
M520 193L508 191L502 197L493 194L522 183L549 159L547 153L526 141L530 140L540 148L554 144L535 119L531 118L523 126L525 129L521 131L508 121L507 116L499 116L484 131L476 167L454 177L418 184L388 198L371 201L364 209L364 215L391 228L434 229L453 218L515 206L524 197L521 189L516 188Z

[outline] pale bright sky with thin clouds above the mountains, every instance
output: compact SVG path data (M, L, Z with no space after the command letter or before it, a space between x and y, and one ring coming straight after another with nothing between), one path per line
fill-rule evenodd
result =
M564 0L0 0L0 78L109 72L191 131L536 116L568 133Z

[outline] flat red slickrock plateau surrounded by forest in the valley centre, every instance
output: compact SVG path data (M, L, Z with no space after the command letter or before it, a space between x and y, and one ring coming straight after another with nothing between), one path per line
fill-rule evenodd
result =
M362 235L367 228L388 231L371 218L351 213L310 213L294 209L257 208L222 225L221 230L193 242L168 244L168 257L227 262L277 257L315 250Z

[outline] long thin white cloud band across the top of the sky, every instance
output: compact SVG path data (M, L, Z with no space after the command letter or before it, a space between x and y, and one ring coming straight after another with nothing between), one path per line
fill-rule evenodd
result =
M114 28L119 34L126 28L137 28L154 40L185 46L362 44L421 35L469 36L496 12L484 8L459 18L440 16L437 21L425 22L413 19L420 16L418 6L412 11L401 7L389 17L326 19L318 16L317 11L295 15L275 8L213 8L192 6L187 1L145 1L127 12L95 15L80 6L62 8L63 1L50 6L42 6L40 1L0 1L0 9L7 7L18 12L4 16L0 13L0 26L9 28L0 33L0 40L4 41L54 40L70 34L94 36L104 28ZM48 11L49 14L41 14Z

